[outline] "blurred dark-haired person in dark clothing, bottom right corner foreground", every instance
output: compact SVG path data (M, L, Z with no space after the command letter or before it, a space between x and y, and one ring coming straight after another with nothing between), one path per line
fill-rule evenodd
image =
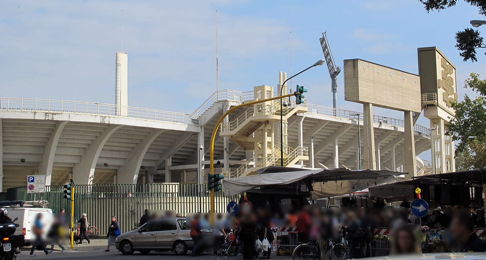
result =
M473 220L468 213L454 216L451 223L451 236L454 245L463 252L485 252L486 242L473 232Z

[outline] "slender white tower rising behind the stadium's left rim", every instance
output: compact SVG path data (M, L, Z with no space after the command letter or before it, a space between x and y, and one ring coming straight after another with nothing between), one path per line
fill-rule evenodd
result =
M117 51L115 65L116 114L128 116L128 53Z

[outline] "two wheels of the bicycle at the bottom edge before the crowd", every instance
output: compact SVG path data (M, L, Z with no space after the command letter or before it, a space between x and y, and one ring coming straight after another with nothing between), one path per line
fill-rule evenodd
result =
M329 260L347 260L349 259L349 252L347 248L342 243L335 243L330 240L326 243L331 243L329 248L328 257ZM321 250L317 246L315 241L309 243L301 243L297 245L292 254L294 260L305 259L305 260L323 260L321 259Z

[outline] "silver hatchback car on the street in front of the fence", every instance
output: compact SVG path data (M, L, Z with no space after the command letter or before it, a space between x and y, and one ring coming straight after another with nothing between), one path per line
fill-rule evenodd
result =
M123 255L134 251L148 254L152 250L173 250L176 255L185 255L194 245L186 226L186 218L151 220L118 236L115 246Z

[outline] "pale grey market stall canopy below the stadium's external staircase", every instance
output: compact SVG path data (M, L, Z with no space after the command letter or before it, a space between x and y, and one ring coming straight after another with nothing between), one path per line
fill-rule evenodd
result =
M314 190L312 199L316 199L343 195L350 191L360 191L379 183L393 182L395 175L403 174L386 170L349 170L345 168L303 170L278 166L262 168L258 173L223 179L223 192L228 196L259 186L284 185L307 179L312 182Z

